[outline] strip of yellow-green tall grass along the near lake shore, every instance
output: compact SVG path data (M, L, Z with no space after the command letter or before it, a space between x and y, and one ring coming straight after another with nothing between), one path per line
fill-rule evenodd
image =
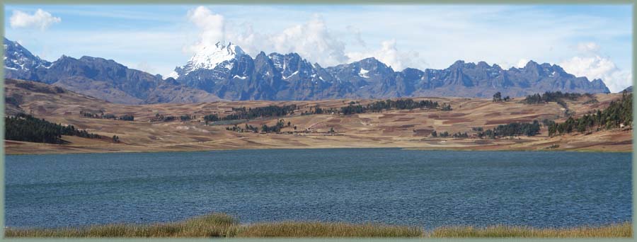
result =
M613 224L573 229L534 229L518 226L441 227L424 231L415 226L348 224L326 222L274 222L241 225L226 214L209 214L185 221L161 224L108 224L62 229L5 229L6 237L521 237L521 238L601 238L632 237L632 224Z

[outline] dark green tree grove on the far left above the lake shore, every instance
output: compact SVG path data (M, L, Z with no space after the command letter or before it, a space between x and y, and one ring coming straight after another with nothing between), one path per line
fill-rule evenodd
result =
M9 140L62 144L62 135L101 139L99 134L76 129L73 125L63 126L24 113L13 117L4 117L4 123L5 139Z

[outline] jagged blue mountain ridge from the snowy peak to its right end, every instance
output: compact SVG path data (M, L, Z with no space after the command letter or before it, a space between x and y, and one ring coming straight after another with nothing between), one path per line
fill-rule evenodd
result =
M178 82L229 100L406 96L488 98L498 91L505 96L526 96L545 91L609 92L602 80L589 81L585 77L568 74L555 64L533 61L523 68L508 70L486 62L457 61L447 69L421 71L408 68L395 71L377 59L367 58L323 69L319 64L310 64L297 53L265 55L261 52L252 59L240 47L222 43L217 43L203 54L196 53L185 66L177 67L175 71Z

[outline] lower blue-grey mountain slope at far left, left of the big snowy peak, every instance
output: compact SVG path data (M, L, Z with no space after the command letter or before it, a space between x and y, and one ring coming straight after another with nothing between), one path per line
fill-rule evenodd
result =
M219 100L205 91L129 69L113 60L62 56L46 62L5 39L5 77L40 81L113 103L198 103ZM16 54L13 54L16 53ZM16 65L21 68L16 68Z

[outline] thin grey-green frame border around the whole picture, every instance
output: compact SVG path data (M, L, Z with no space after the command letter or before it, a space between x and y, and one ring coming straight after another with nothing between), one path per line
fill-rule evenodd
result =
M408 4L432 4L432 5L534 5L534 4L548 4L548 5L614 5L614 4L622 4L622 5L632 5L632 24L633 24L633 50L632 50L632 69L631 73L633 73L633 86L637 83L637 76L634 75L634 71L637 69L637 62L635 62L635 56L637 53L637 42L635 41L635 33L637 30L637 21L635 18L635 13L637 12L637 1L636 0L515 0L515 1L506 1L506 0L483 0L483 1L471 1L471 0L269 0L269 1L258 1L258 0L84 0L84 1L73 1L73 0L4 0L1 4L1 13L2 16L2 35L5 35L4 32L4 6L11 4L40 4L40 5L61 5L61 4L69 4L69 5L93 5L93 4L103 4L103 5L111 5L111 4L122 4L122 5L143 5L143 4L180 4L180 5L194 5L194 4L224 4L224 5L234 5L234 4L246 4L246 5L272 5L272 4L297 4L297 5L331 5L331 4L368 4L368 5L384 5L384 4L396 4L396 5L408 5ZM0 50L0 53L4 56L4 48ZM4 68L0 69L0 74L4 76ZM3 92L4 96L4 79L0 82L0 88ZM637 100L637 96L633 96L633 103ZM637 106L633 105L633 115L637 111ZM0 98L0 113L4 117L4 98ZM633 116L634 117L634 116ZM633 118L634 119L634 118ZM4 127L4 118L0 119L0 126ZM633 137L635 137L637 131L633 129ZM0 139L4 140L4 128L0 131ZM633 142L633 151L636 149L637 144ZM0 238L3 241L210 241L210 238L4 238L4 144L0 146ZM632 174L633 174L633 233L637 231L637 224L634 222L635 218L635 200L637 199L637 180L636 178L636 170L635 170L635 160L637 156L634 152L632 152ZM223 240L229 241L634 241L633 238L224 238Z

